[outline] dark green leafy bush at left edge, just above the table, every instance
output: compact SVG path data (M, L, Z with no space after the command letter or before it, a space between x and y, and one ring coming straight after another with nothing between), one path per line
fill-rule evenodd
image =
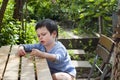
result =
M8 45L8 44L14 44L16 42L19 26L19 22L14 22L14 21L6 21L2 26L1 33L0 33L0 45Z

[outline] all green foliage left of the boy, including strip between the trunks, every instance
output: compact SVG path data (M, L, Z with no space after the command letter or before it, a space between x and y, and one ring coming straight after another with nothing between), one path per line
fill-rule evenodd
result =
M4 19L2 21L3 24L0 33L0 46L10 44L36 43L38 40L34 31L35 20L30 20L29 22L27 22L25 19L24 22L14 20L12 18L14 11L13 4L14 1L9 0L4 14Z

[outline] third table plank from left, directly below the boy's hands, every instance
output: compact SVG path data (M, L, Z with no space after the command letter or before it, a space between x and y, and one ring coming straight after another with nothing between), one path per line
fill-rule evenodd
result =
M33 61L27 57L22 57L20 80L35 80Z

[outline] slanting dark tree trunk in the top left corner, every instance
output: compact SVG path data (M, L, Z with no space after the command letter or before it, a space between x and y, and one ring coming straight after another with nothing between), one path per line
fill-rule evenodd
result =
M0 9L0 32L2 30L2 20L3 20L3 17L4 17L4 13L5 13L8 1L9 0L3 0L2 6L1 6L1 9Z

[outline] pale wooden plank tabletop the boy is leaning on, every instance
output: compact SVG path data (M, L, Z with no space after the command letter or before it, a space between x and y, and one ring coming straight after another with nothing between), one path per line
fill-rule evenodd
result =
M0 48L0 80L52 80L46 59L16 55L18 46Z

